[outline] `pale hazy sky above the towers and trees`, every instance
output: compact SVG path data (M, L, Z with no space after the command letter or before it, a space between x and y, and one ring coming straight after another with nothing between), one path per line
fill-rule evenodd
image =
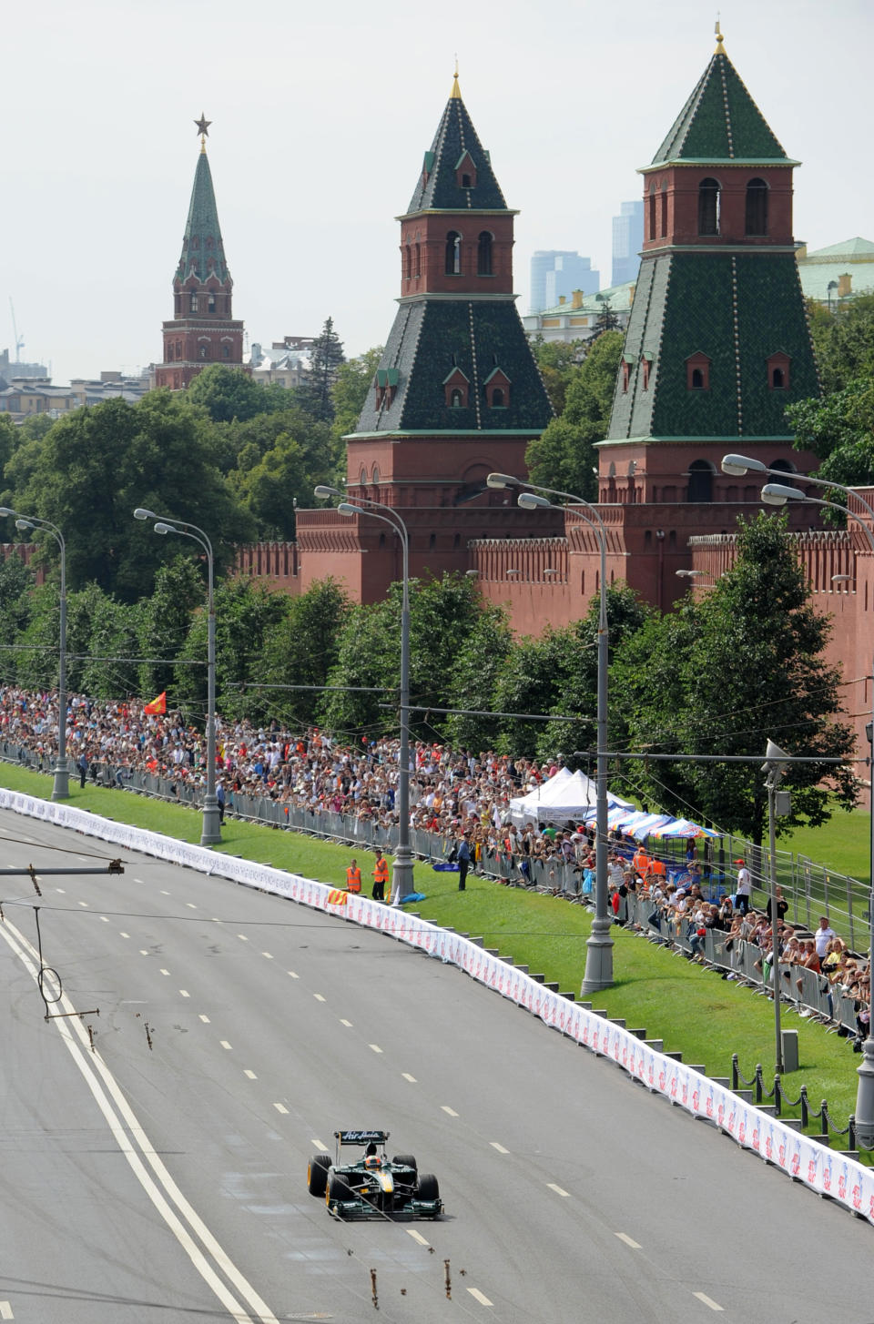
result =
M714 49L699 0L40 0L7 7L0 351L56 381L162 357L208 142L234 315L252 340L331 315L347 355L385 340L400 214L452 89L535 249L610 277L610 217ZM871 0L723 0L726 52L801 159L795 233L874 240Z

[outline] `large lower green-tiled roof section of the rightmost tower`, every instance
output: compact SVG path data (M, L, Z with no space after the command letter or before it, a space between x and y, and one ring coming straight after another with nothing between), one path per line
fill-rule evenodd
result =
M767 360L789 355L789 389L768 388ZM674 253L645 258L625 338L608 440L791 437L788 404L820 385L791 253ZM640 360L652 354L649 389ZM710 359L710 389L690 391L686 360Z

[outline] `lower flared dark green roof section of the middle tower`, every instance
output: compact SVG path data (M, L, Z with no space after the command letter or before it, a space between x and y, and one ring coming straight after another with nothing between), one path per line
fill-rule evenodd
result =
M509 402L490 409L485 384L495 368L511 380ZM446 380L460 369L469 381L466 409L446 404ZM417 299L401 303L376 369L397 372L397 393L376 408L368 392L358 433L542 432L552 406L522 328L515 303L482 299ZM388 380L388 379L387 379Z

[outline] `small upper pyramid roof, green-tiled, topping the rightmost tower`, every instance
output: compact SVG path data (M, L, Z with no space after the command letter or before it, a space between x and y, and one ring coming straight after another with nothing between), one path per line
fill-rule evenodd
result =
M718 52L652 164L736 159L788 160L728 56Z

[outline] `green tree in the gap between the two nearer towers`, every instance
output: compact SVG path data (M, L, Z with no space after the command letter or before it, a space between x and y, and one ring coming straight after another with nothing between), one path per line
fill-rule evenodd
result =
M567 388L564 413L527 449L531 482L585 500L597 498L595 442L607 436L622 343L621 331L607 331L589 342Z

